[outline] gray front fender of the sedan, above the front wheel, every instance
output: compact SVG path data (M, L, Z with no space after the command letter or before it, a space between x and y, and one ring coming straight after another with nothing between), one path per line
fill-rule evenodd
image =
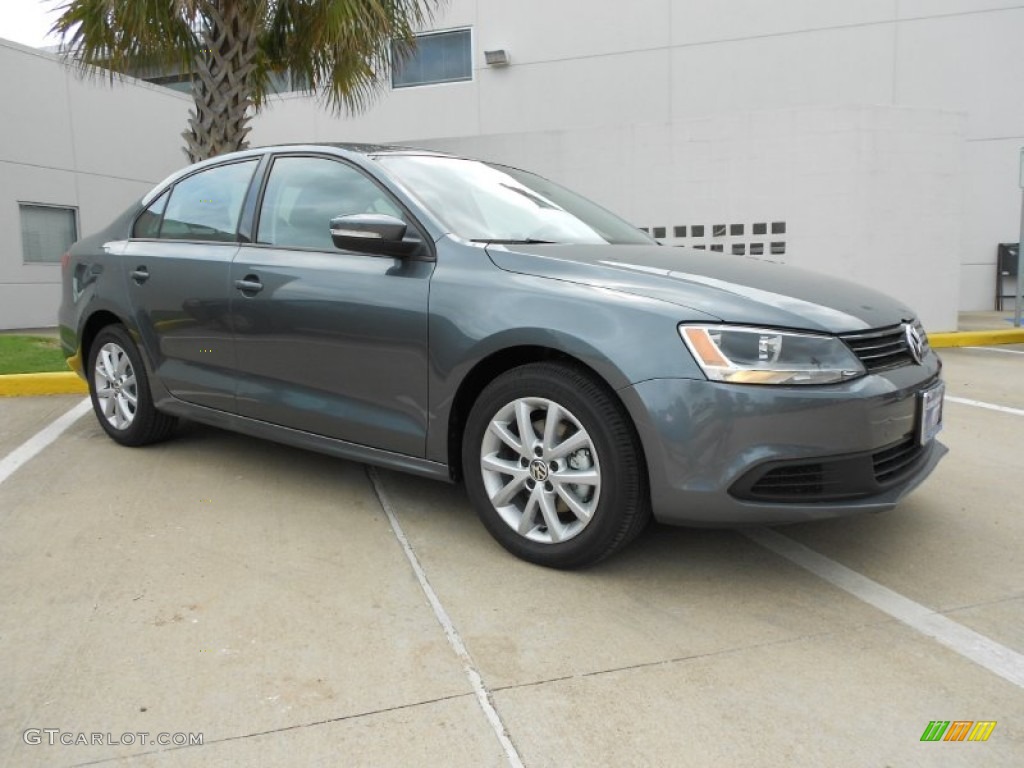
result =
M442 240L430 288L427 458L446 461L459 387L496 353L555 350L614 390L663 377L702 380L676 329L713 319L658 299L504 271L482 249Z

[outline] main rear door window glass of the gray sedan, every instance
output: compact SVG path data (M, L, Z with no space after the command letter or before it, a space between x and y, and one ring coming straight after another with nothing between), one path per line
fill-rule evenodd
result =
M178 181L171 189L160 237L234 241L242 202L257 163L247 160L221 165Z

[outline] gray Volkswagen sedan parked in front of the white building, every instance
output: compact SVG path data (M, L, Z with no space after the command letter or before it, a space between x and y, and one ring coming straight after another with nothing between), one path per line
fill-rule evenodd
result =
M536 563L654 518L893 507L938 463L914 313L778 264L660 247L540 176L387 146L186 168L65 259L61 338L125 445L191 419L465 482Z

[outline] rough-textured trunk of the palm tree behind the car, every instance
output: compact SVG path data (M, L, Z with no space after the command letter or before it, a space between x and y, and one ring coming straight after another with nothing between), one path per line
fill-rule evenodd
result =
M247 7L249 6L249 7ZM185 154L193 163L249 146L252 78L258 19L247 16L258 3L210 0L203 8L203 49L193 81L196 109L188 112Z

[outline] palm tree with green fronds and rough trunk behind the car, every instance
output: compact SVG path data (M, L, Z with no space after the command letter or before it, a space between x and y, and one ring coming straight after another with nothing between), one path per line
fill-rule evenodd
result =
M68 0L53 25L84 72L195 70L185 154L248 146L249 122L291 72L336 114L365 109L443 0Z

